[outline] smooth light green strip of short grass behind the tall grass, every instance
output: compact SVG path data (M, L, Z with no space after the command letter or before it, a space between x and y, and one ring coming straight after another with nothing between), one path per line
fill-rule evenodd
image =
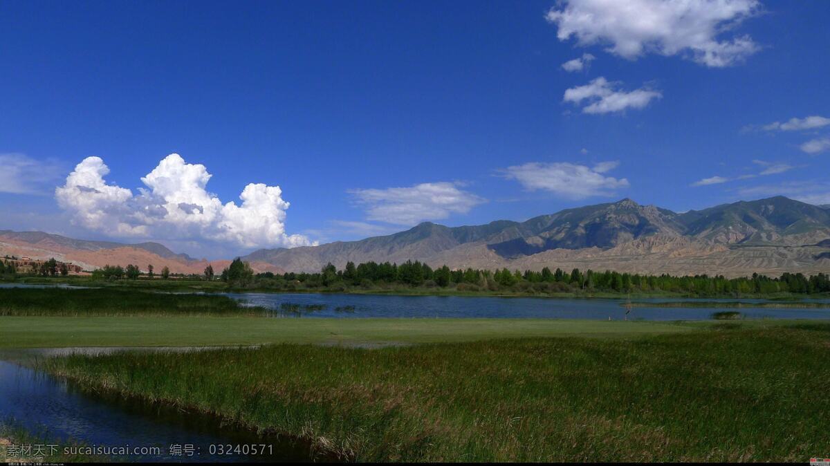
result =
M464 342L510 337L630 337L694 325L526 318L0 317L0 347Z

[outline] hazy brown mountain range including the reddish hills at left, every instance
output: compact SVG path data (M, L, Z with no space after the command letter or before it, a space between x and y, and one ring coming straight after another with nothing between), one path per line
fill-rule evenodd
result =
M206 260L175 254L159 243L124 245L73 240L41 232L0 231L4 250L28 247L32 257L55 250L90 268L134 262L200 272ZM12 249L10 249L12 248ZM35 250L37 249L37 254ZM120 259L121 258L121 259ZM74 259L74 260L73 260ZM481 269L615 269L649 274L780 274L830 272L830 208L787 197L739 201L701 211L674 212L631 199L566 209L527 221L448 227L424 222L407 231L357 241L243 256L256 270L319 271L332 264L421 260ZM155 260L156 262L148 262ZM214 260L219 269L227 260Z

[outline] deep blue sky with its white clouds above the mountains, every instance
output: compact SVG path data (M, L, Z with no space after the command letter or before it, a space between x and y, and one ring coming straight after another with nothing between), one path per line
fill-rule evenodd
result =
M211 257L623 197L830 203L830 6L718 5L2 2L0 228Z

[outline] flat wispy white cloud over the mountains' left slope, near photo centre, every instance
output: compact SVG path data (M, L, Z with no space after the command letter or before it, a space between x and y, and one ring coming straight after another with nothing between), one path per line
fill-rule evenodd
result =
M396 225L416 225L421 221L464 214L485 199L459 189L455 182L428 182L412 187L350 190L355 200L366 206L366 218Z

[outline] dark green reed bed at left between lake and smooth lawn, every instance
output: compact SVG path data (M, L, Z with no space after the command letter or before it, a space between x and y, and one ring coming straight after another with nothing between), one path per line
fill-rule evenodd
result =
M0 316L266 315L227 296L133 289L0 289Z

